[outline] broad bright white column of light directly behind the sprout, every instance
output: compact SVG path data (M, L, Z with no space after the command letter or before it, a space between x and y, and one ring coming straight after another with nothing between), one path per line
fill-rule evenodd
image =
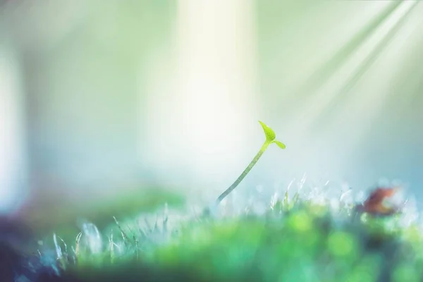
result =
M248 150L259 146L249 144L249 134L255 132L262 141L254 111L251 5L241 0L178 1L176 50L167 61L158 57L159 65L152 63L149 158L162 171L185 173L180 176L184 185L203 185L202 190L204 185L219 190L230 185L248 156L254 156ZM173 72L166 73L166 63L174 64Z

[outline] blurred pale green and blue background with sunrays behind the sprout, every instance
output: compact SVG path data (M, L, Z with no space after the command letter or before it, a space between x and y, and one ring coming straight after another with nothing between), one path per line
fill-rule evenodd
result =
M423 198L421 1L0 1L0 212L307 177ZM146 192L148 191L148 192ZM153 199L154 200L154 199Z

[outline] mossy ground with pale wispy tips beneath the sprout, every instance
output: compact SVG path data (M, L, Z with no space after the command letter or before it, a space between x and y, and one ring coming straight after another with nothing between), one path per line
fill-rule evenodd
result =
M313 198L151 226L117 221L104 233L86 223L73 243L56 237L54 275L39 281L422 281L423 236L410 212L377 218L342 197Z

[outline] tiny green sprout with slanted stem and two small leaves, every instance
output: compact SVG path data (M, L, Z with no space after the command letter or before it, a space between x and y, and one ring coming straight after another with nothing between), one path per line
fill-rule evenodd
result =
M264 124L262 121L259 121L259 123L262 125L264 135L266 135L266 141L264 141L264 144L260 148L259 152L255 155L254 159L252 159L250 164L247 166L247 168L245 168L245 170L243 171L243 173L241 173L237 180L235 180L235 182L217 198L216 204L219 204L226 196L229 195L229 193L231 193L240 184L240 182L245 178L245 176L247 176L247 174L251 171L253 166L255 166L257 161L259 161L260 157L262 157L262 154L264 153L264 151L266 151L267 147L271 145L271 143L275 143L281 149L286 148L285 144L276 140L276 134L274 130L269 128L269 126Z

